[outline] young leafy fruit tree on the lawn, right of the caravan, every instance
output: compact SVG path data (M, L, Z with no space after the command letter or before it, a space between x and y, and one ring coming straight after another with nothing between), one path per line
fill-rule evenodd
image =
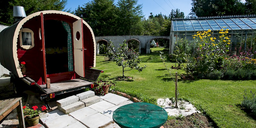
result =
M125 43L126 40L124 40L123 44L120 44L120 47L118 47L115 51L115 48L113 46L113 42L110 40L108 44L108 52L106 53L106 56L112 60L116 61L116 64L118 66L123 67L123 78L124 78L124 68L129 67L132 69L136 69L139 72L142 71L144 68L146 68L146 65L144 67L140 67L140 59L139 59L139 52L135 52L133 49L129 49L127 47L127 44Z

